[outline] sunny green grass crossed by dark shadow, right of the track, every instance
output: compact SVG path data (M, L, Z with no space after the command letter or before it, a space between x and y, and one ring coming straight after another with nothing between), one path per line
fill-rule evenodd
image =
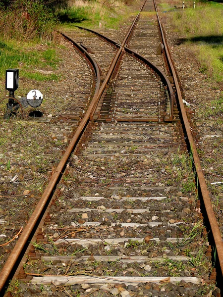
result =
M175 9L163 17L182 36L178 44L186 44L197 56L200 72L223 83L223 5L212 1L196 3L195 9L192 1L185 5L185 9Z

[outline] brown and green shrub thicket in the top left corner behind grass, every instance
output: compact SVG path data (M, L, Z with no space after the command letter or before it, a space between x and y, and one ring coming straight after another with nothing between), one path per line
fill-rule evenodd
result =
M51 41L56 25L55 8L46 5L44 0L13 0L5 7L7 2L0 1L0 26L4 39L26 41L38 37L41 42Z

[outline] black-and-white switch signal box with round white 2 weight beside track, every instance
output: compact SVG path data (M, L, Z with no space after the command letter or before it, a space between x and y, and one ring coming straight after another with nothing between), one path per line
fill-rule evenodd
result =
M23 108L28 107L38 107L43 101L43 95L38 90L31 90L27 97L22 97L16 99L14 97L14 91L18 89L18 80L19 80L19 69L7 69L5 72L5 90L9 91L9 96L7 97L8 102L6 103L6 112L4 114L5 119L9 117L17 110L19 107L22 110Z

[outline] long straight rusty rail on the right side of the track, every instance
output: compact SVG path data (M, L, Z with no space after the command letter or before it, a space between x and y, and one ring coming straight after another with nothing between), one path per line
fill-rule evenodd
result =
M157 6L156 6L156 2L154 0L154 5L157 11ZM157 11L158 14L158 11ZM161 21L159 18L159 23L160 23L160 27L162 29L162 25L161 25ZM221 236L221 232L218 226L218 222L215 216L215 212L213 210L212 207L212 203L211 203L211 198L209 196L209 191L205 182L205 177L204 177L204 173L202 171L202 167L201 167L201 163L199 160L199 156L198 156L198 152L197 152L197 148L196 145L194 143L193 140L193 136L191 133L191 129L190 129L190 124L186 115L186 111L183 105L183 99L181 96L181 91L180 91L180 87L178 84L178 80L177 80L177 76L176 76L176 72L173 66L173 63L171 61L170 58L170 54L169 54L169 49L167 47L167 43L165 40L165 36L164 36L164 32L162 29L162 34L163 34L163 39L164 39L164 47L167 53L167 57L168 57L168 63L169 63L169 67L171 69L172 72L172 77L174 80L174 84L175 84L175 88L176 88L176 99L178 101L178 105L180 107L180 112L181 112L181 116L182 116L182 120L183 120L183 125L185 127L185 131L186 131L186 135L188 138L188 142L191 148L191 153L193 155L193 160L194 160L194 166L195 166L195 170L196 170L196 174L198 177L198 183L199 183L199 187L200 187L200 191L201 191L201 195L202 195L202 199L204 201L204 205L205 205L205 210L208 216L208 220L210 223L210 227L211 227L211 231L212 231L212 236L214 238L215 241L215 245L216 245L216 249L217 249L217 253L218 253L218 259L219 259L219 264L221 267L221 272L222 272L222 277L223 277L223 241L222 241L222 236Z

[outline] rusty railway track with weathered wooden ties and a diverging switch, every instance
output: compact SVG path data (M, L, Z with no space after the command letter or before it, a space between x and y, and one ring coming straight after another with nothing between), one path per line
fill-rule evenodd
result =
M220 296L195 177L212 213L166 44L159 57L151 44L136 53L147 25L136 18L121 44L77 29L76 46L100 67L92 59L96 91L1 271L1 292L17 270L18 296Z

